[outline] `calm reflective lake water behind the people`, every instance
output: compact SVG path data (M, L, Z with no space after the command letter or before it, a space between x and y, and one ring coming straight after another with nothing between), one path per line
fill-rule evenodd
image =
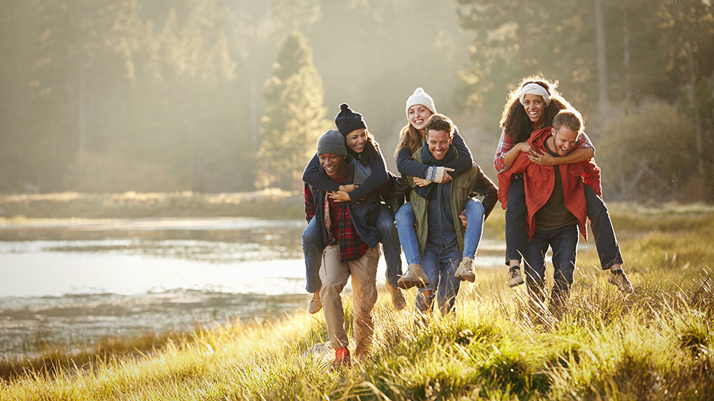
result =
M0 358L306 308L304 220L30 220L0 226ZM502 263L484 238L477 263ZM380 260L378 283L386 266Z

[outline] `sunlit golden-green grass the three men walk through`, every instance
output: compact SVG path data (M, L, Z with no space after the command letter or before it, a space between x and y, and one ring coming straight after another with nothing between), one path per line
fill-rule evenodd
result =
M349 370L326 368L323 316L298 311L141 352L63 355L47 360L52 370L36 361L0 384L0 400L710 400L714 210L610 211L635 293L606 282L594 250L580 253L560 320L531 307L524 286L504 285L505 269L481 269L462 285L456 318L417 325L415 290L401 312L381 293L371 355ZM487 232L502 219L496 211Z

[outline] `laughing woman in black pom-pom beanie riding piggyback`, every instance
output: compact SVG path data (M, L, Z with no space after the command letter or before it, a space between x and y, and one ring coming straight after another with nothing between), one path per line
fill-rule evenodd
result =
M379 144L374 141L367 130L360 113L354 112L347 103L340 105L340 112L335 117L335 125L345 138L347 153L356 160L355 180L352 185L340 186L325 178L320 173L320 162L317 155L313 156L303 173L303 181L321 191L330 191L329 196L338 202L357 202L372 191L379 191L389 180L386 163L379 150ZM387 264L387 288L391 294L394 308L401 310L406 300L398 288L397 280L401 276L401 245L394 226L394 215L391 210L380 204L376 227L382 236L384 258ZM317 313L321 308L320 277L321 263L321 231L314 224L314 219L303 231L303 253L305 255L307 290L313 293L313 300L308 311Z

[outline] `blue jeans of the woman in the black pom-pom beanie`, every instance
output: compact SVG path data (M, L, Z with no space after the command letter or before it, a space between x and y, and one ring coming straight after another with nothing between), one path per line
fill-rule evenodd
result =
M413 215L413 213L412 213ZM382 246L384 248L384 259L387 263L386 279L392 287L397 287L397 280L401 277L401 245L394 226L394 218L391 210L386 205L379 206L376 226L382 234ZM323 253L322 230L312 218L308 226L303 230L303 256L305 257L305 277L307 284L305 289L308 293L320 290L322 282L319 270Z

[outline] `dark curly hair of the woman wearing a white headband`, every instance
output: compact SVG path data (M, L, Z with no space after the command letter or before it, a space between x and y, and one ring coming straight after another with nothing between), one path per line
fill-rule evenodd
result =
M518 142L526 141L531 136L531 131L533 131L531 118L528 118L528 114L518 98L521 94L521 88L528 83L540 85L550 93L550 104L545 108L545 126L553 125L553 118L555 114L558 114L558 111L565 108L573 108L555 90L555 88L558 88L558 81L551 82L540 74L526 76L526 78L521 79L521 83L511 93L508 93L508 101L503 106L503 113L501 113L501 128L506 131L506 136L511 139L514 145Z

